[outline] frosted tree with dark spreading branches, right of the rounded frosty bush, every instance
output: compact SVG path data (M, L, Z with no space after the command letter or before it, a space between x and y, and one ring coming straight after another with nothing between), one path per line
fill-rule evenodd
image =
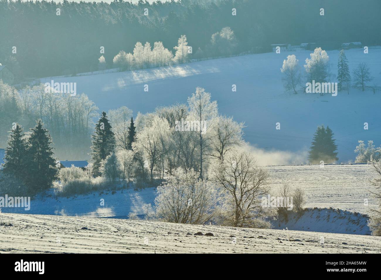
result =
M221 224L234 227L270 227L264 219L276 216L275 208L261 206L261 197L269 192L269 174L256 166L255 158L244 150L235 150L223 162L213 165L211 178L219 187Z

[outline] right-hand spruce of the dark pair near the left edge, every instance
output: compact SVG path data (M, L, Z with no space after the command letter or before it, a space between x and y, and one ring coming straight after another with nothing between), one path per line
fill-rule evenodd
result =
M30 190L39 192L48 189L57 179L58 169L53 158L53 144L49 131L43 128L42 120L31 129L28 138L28 167L26 181Z

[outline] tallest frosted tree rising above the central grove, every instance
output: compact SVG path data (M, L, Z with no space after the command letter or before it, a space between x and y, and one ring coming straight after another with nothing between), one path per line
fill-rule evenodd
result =
M200 124L199 128L194 130L197 134L195 141L199 147L200 153L200 178L203 178L203 163L207 162L212 144L212 127L215 118L218 115L217 102L210 101L210 93L205 92L203 88L197 87L196 92L188 98L189 116L187 120Z

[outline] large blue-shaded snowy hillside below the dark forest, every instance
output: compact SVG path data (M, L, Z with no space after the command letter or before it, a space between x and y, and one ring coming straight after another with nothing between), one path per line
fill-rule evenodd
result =
M304 73L303 64L311 51L297 51L296 57ZM327 51L330 71L337 74L338 50ZM312 135L320 124L329 125L338 144L339 162L353 161L357 141L373 140L381 144L379 119L380 92L361 92L351 89L349 95L318 94L289 95L285 93L280 68L291 52L263 53L233 58L192 62L178 66L146 70L106 73L79 77L53 78L54 82L77 82L77 93L85 93L100 110L127 106L136 114L152 112L155 107L186 102L196 86L205 88L218 101L219 112L245 122L245 140L260 148L257 151L262 165L301 163L306 159ZM370 86L381 86L381 48L346 50L352 71L366 62L374 78ZM51 78L41 79L50 82ZM335 81L332 81L335 82ZM144 84L149 91L144 91ZM237 92L232 92L232 85ZM280 122L281 129L275 130ZM363 123L369 123L369 130ZM287 157L269 151L290 151ZM265 152L265 153L263 153Z

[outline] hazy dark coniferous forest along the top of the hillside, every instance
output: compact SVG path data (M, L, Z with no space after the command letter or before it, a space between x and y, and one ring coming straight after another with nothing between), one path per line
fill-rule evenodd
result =
M325 8L335 16L319 17ZM372 7L372 8L370 8ZM56 9L60 9L60 16ZM144 9L148 15L144 15ZM228 16L232 8L239 16ZM380 43L381 2L337 1L139 1L138 4L0 0L0 61L22 78L73 75L98 70L99 47L107 68L120 51L136 42L163 42L173 51L186 35L194 53L208 52L211 35L229 26L237 38L235 53L264 52L273 43ZM328 14L327 14L328 15ZM364 18L366 19L364 21ZM284 42L283 42L284 41ZM17 54L11 53L17 47ZM5 62L5 63L4 63Z

